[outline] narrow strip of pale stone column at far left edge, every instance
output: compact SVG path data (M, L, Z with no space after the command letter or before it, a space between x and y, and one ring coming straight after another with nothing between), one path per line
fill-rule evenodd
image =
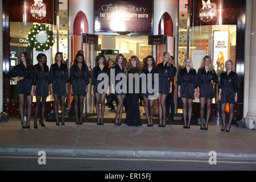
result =
M0 1L0 15L2 15L3 1ZM0 112L3 111L3 19L0 18Z

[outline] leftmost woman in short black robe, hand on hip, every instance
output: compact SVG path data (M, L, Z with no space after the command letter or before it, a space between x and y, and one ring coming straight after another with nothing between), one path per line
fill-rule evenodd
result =
M32 96L34 94L35 74L30 56L27 52L20 54L20 64L16 65L6 74L7 77L18 81L17 93L19 95L19 114L22 120L22 128L30 128L30 117L32 111ZM19 78L16 78L19 77ZM27 123L24 122L24 97L27 99Z

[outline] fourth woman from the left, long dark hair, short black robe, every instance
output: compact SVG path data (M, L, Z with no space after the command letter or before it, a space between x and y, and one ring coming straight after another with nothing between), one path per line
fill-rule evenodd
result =
M77 53L70 73L71 94L75 100L76 125L82 125L82 110L84 110L84 97L88 93L89 71L84 55ZM78 106L79 105L79 106ZM79 110L80 109L80 119Z

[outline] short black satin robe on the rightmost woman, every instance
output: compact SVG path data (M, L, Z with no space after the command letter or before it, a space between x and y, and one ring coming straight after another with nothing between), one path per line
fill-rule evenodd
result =
M218 86L221 89L221 103L234 104L234 98L239 89L237 73L233 71L229 75L227 72L221 73Z

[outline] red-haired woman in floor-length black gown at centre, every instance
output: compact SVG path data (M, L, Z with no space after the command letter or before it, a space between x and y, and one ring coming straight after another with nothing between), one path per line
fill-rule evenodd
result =
M127 63L127 71L128 75L134 75L135 73L138 73L138 75L141 74L142 65L137 56L131 56L130 61ZM129 90L130 85L133 85L133 90L129 90L127 94L125 123L128 126L142 126L141 113L139 111L141 78L139 78L139 82L135 82L135 78L132 77L130 79L129 77L127 80L127 90Z

